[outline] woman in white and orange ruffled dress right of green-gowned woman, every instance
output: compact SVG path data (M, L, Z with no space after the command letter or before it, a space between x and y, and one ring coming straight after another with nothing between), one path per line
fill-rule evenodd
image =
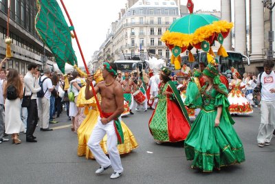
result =
M239 72L232 67L233 79L230 83L229 89L231 89L228 94L228 101L230 103L229 111L230 114L234 115L247 115L253 113L250 103L245 98L245 95L241 92L242 81L239 79ZM245 85L243 85L245 87Z

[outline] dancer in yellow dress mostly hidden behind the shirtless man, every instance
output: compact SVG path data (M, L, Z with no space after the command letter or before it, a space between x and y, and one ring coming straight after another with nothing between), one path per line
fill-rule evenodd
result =
M94 74L94 80L95 84L98 84L98 82L101 82L103 79L102 77L102 71L98 70ZM89 147L87 146L89 137L91 136L92 130L94 130L94 126L96 126L96 123L98 122L98 116L99 111L96 106L96 99L95 97L92 97L89 100L85 100L85 91L83 93L83 89L85 90L86 87L83 87L80 90L80 93L78 95L78 106L85 106L85 111L87 107L91 108L91 110L88 112L87 117L83 120L82 124L78 128L78 156L86 156L87 159L94 159L94 155L91 153L91 150L89 150ZM91 89L91 87L90 87ZM101 96L98 93L98 100L101 100ZM124 137L124 143L118 145L118 152L120 154L126 154L131 152L131 150L137 148L138 144L135 140L135 137L131 130L122 122L120 119L120 123L122 126L123 131L123 137ZM107 136L105 135L100 141L100 146L104 152L104 154L108 154L107 152Z

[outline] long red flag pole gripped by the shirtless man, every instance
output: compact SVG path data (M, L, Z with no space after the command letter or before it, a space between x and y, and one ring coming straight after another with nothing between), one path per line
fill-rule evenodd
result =
M71 20L71 18L70 18L70 16L69 16L69 13L68 13L68 11L67 11L67 8L65 7L65 4L63 3L63 0L61 0L61 4L62 4L62 6L63 6L63 9L64 9L65 12L66 12L66 15L67 15L68 19L69 19L70 25L71 25L72 27L74 27L74 24L73 24L73 22L72 22L72 20ZM87 65L86 65L86 61L85 61L85 58L84 58L84 56L83 56L83 51L82 51L82 49L81 49L81 47L80 47L80 43L79 43L78 37L77 37L77 35L76 35L76 30L73 30L73 32L74 32L74 36L75 36L75 38L76 38L76 43L77 43L77 45L78 45L78 49L79 49L80 54L81 54L81 58L83 59L83 63L84 63L86 72L87 72L87 74L89 75L89 74L90 74L90 73L89 73L89 69L88 69L88 67L87 67ZM100 108L100 104L99 104L99 101L98 101L98 97L97 97L97 95L96 95L96 91L95 91L95 89L94 89L93 82L91 82L90 86L91 86L91 89L92 89L92 91L93 91L93 93L94 93L94 97L96 98L96 105L98 106L98 111L100 112L100 117L102 117L102 111L101 111L101 108Z

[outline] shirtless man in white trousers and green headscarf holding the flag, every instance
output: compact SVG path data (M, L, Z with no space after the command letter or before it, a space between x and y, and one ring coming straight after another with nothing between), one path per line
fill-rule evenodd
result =
M123 91L120 83L115 80L116 67L113 64L104 62L104 70L102 72L104 81L99 82L94 87L96 93L101 94L102 117L98 117L98 122L91 133L88 146L94 154L96 161L100 164L100 168L96 170L96 174L101 174L104 170L112 167L114 172L111 179L117 179L123 172L120 154L118 152L118 141L123 143L123 133L118 117L124 111ZM110 66L111 65L111 66ZM85 89L85 98L89 100L94 96L92 90L89 90L89 84L93 81L91 76L87 78L87 87ZM121 134L122 133L122 134ZM100 147L100 141L107 134L107 152L109 158L104 154Z

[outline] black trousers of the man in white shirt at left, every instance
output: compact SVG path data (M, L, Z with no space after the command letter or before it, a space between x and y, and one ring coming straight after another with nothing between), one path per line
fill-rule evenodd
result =
M27 133L26 138L32 139L32 136L34 134L34 130L36 128L36 124L39 121L39 113L37 110L37 103L36 99L32 99L30 106L27 107L28 109L28 118L27 118Z

